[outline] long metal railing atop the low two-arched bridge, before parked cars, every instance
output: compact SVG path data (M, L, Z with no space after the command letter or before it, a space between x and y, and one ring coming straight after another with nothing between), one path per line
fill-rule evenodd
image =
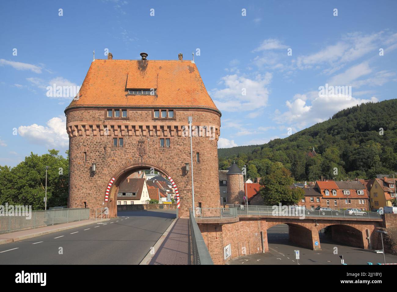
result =
M228 205L230 209L237 209L238 215L265 215L265 216L295 216L295 217L328 217L328 218L382 218L378 212L340 211L340 210L311 210L295 206L254 206Z

